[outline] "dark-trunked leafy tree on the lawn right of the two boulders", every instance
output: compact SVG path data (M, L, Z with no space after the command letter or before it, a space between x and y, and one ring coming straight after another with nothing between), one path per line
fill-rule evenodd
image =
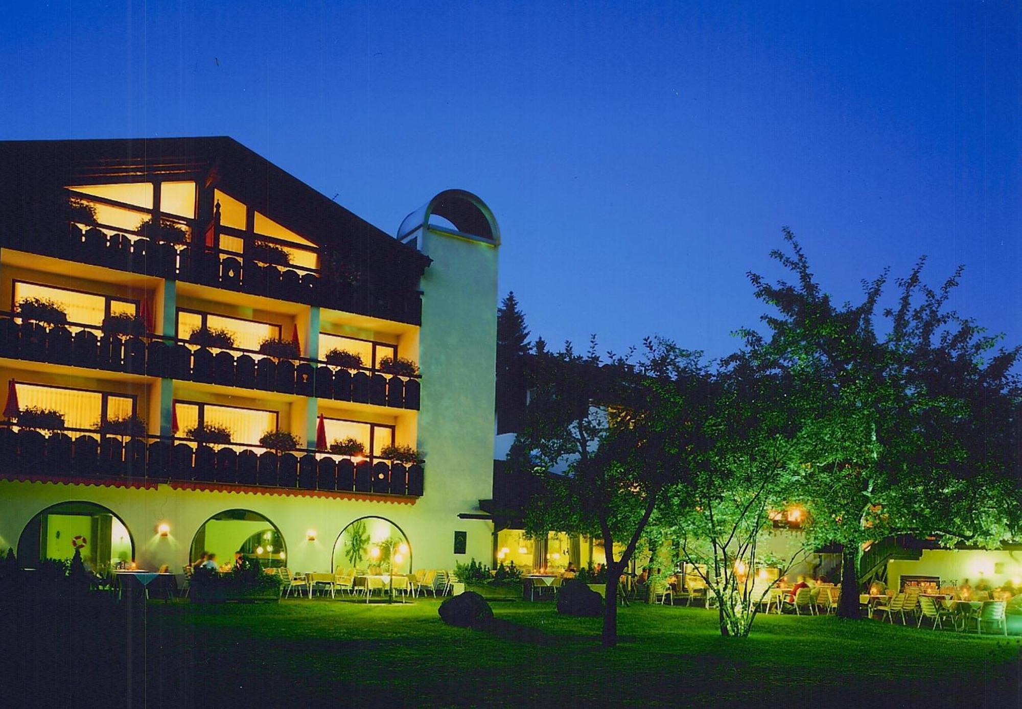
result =
M527 511L530 533L603 539L606 647L617 642L617 579L665 490L689 474L684 461L705 447L685 440L658 405L667 387L693 398L704 393L696 353L651 340L638 366L609 360L596 353L595 341L585 356L570 344L537 353L525 425L509 454L512 470L540 478Z

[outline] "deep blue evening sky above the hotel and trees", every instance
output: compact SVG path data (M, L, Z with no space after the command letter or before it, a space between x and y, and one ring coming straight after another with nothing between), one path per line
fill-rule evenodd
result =
M841 297L965 264L1015 344L1020 67L1015 2L25 2L0 138L229 135L391 234L468 189L553 343L727 353L788 225Z

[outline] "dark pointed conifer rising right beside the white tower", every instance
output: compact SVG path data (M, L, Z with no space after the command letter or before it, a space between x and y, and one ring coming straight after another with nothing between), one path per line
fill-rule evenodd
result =
M525 411L528 329L514 291L497 309L497 419L500 433L517 431Z

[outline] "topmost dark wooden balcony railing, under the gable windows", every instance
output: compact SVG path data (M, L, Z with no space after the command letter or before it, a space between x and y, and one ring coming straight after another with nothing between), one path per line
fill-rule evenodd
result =
M119 271L421 324L421 292L409 288L397 272L390 281L382 278L382 282L370 283L362 275L351 283L300 267L225 256L196 241L159 241L130 232L107 234L97 227L83 230L73 223L65 223L65 233L5 229L3 245Z

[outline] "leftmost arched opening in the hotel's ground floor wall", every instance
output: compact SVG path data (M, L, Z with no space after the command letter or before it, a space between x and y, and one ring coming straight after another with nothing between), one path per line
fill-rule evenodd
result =
M17 540L17 559L32 566L45 559L60 561L82 553L82 561L96 571L129 565L135 541L128 527L102 505L58 503L33 517Z

